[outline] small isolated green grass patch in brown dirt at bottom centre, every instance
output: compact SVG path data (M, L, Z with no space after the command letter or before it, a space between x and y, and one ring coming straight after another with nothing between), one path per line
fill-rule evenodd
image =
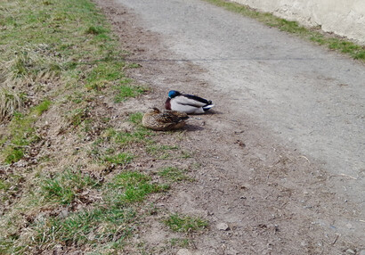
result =
M208 226L207 220L198 217L180 216L178 214L170 215L169 218L164 220L164 223L174 232L183 233L201 231Z

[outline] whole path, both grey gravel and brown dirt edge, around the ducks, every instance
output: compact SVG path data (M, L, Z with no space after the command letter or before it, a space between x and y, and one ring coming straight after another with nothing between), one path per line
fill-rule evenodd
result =
M365 249L362 65L199 1L98 2L155 89L146 108L170 88L216 104L187 127L197 182L161 205L211 223L191 254Z

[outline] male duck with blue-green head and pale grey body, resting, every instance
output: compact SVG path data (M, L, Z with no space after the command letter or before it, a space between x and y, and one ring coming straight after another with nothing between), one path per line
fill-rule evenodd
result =
M165 103L167 110L183 111L186 113L204 113L215 106L211 100L201 98L197 95L181 94L176 90L168 92Z

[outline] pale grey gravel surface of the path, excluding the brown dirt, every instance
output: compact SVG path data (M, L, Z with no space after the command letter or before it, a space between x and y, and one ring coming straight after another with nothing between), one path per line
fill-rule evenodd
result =
M363 64L205 2L119 2L182 61L208 70L204 78L230 100L232 117L248 113L333 174L363 176ZM363 203L365 181L349 188Z

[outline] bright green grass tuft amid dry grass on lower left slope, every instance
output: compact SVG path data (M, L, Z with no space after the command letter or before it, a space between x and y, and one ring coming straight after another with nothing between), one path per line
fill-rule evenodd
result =
M45 177L41 180L41 194L49 201L69 204L74 201L78 193L85 188L101 185L89 175L80 171L66 169L54 177Z

